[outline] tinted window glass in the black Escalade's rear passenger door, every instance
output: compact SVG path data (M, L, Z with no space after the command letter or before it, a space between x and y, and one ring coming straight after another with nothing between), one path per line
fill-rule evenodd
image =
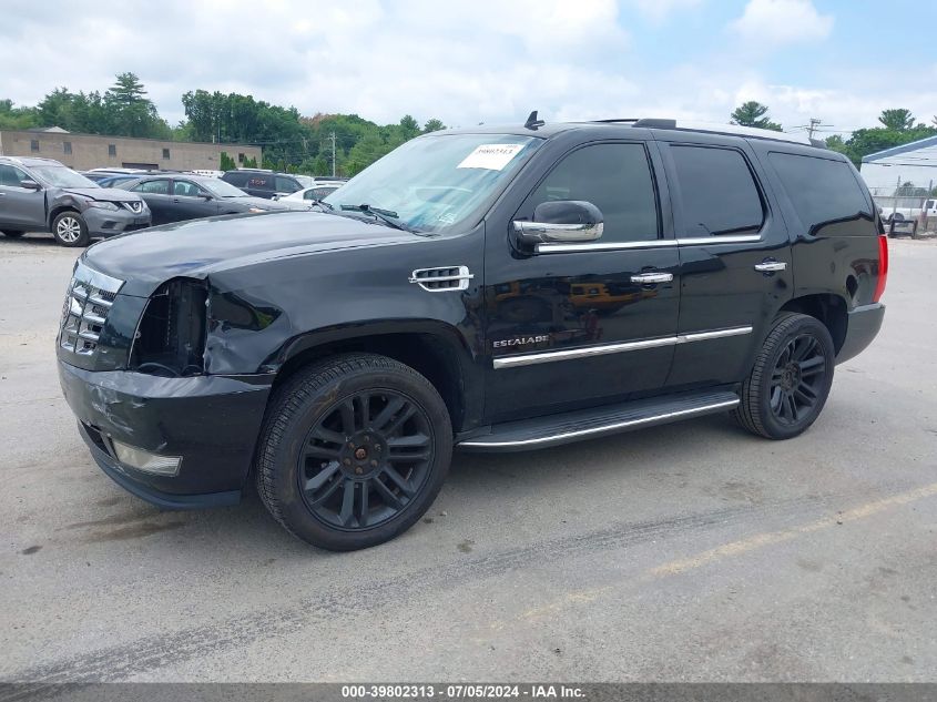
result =
M755 233L764 222L744 156L731 149L671 145L683 201L685 236Z

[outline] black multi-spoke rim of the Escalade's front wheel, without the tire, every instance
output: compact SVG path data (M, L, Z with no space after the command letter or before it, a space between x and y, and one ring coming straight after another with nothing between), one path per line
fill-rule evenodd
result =
M306 436L296 476L316 518L360 531L404 511L434 459L426 410L399 391L367 389L323 414Z

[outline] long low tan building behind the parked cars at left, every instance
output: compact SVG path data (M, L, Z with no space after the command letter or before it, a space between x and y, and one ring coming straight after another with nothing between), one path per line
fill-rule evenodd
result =
M222 152L235 163L263 162L259 146L73 134L59 128L0 131L0 155L54 159L77 171L101 167L218 171Z

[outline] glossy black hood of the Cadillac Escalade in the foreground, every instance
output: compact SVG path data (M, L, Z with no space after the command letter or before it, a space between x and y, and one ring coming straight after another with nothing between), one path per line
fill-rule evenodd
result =
M146 297L174 277L205 278L212 273L273 258L420 238L353 217L308 211L271 212L141 230L94 244L83 260L90 267L125 281L121 294Z

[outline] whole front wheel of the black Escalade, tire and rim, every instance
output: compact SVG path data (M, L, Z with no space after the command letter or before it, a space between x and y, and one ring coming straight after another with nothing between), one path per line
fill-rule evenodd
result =
M304 541L363 549L429 509L451 454L449 413L426 378L384 356L336 356L297 373L271 400L257 491Z

